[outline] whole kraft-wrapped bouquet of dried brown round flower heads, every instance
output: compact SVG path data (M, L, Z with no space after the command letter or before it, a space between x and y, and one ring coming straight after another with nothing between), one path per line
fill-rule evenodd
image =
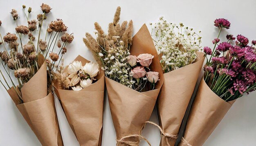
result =
M40 143L43 146L63 146L54 97L51 90L48 90L51 84L47 80L50 80L50 71L56 68L54 64L58 62L61 51L62 55L67 51L65 44L72 42L73 35L65 33L61 39L64 37L65 40L67 36L67 41L63 44L58 40L59 33L67 31L67 27L60 19L50 22L47 31L43 34L42 27L45 26L43 22L52 9L49 5L40 6L43 13L37 15L37 20L29 18L31 7L28 9L25 5L22 7L27 26L18 24L20 18L18 11L12 9L11 16L17 24L16 34L7 33L3 37L0 34L2 41L0 47L3 49L0 53L0 61L4 68L0 71L2 75L0 81ZM52 37L54 32L55 35ZM47 33L51 34L48 37L48 44ZM55 46L60 48L60 53L53 52ZM15 84L16 82L18 85Z

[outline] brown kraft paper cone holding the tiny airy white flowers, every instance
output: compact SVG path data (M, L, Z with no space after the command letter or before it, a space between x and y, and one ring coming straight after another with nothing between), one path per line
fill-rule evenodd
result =
M164 84L157 98L159 124L165 133L177 135L204 62L204 53L187 66L164 73ZM160 146L175 145L175 137L161 138Z

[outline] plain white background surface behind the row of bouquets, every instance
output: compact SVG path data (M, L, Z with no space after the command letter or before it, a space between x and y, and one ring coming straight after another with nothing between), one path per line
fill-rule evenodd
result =
M213 26L216 18L226 18L231 28L222 31L221 38L229 33L242 34L249 40L256 39L256 1L255 0L45 0L53 9L48 21L61 18L68 26L68 32L74 33L75 40L68 47L65 63L71 62L77 55L93 60L91 53L83 44L85 32L94 32L94 22L99 22L107 31L112 22L116 7L121 6L121 21L133 20L134 34L144 24L157 22L159 16L165 16L169 22L183 22L186 26L201 30L203 46L212 46L217 31ZM41 2L36 0L0 0L0 32L15 33L15 24L11 20L11 9L17 9L21 19L19 24L26 25L22 4L32 7L32 18L40 12ZM1 48L2 51L2 48ZM2 68L0 68L2 69ZM40 146L13 101L0 88L0 146ZM237 100L204 146L256 146L256 92ZM102 146L115 146L115 129L112 124L107 96L104 103L104 124ZM65 146L78 146L78 142L67 123L61 106L56 102L61 134ZM151 121L157 122L154 110ZM158 122L157 122L158 123ZM92 125L93 126L93 125ZM152 144L158 146L159 130L147 125L142 133ZM141 142L141 146L146 146Z

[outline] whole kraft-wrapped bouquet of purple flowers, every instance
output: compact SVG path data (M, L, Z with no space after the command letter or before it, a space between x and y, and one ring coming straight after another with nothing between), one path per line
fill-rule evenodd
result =
M245 36L227 35L227 41L220 42L220 33L222 29L229 29L230 22L216 19L214 26L219 28L218 37L212 41L212 50L204 47L205 55L210 57L204 65L204 77L180 146L202 146L236 99L256 89L256 41L249 46ZM235 39L232 45L230 42Z

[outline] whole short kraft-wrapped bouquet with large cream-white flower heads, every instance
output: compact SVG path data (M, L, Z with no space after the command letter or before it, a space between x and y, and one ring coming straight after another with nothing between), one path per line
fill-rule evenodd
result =
M80 146L101 146L105 78L98 64L91 63L79 55L65 67L71 90L69 87L63 88L63 80L55 79L59 75L54 73L55 93ZM72 71L77 73L80 79L78 83L74 81L75 75L70 74ZM61 75L65 76L64 72Z

